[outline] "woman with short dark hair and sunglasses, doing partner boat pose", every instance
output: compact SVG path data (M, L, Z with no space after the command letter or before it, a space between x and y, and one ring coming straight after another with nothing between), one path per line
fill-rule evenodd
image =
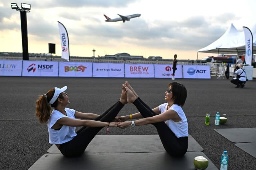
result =
M153 124L165 150L174 157L183 156L188 148L188 123L181 108L187 98L186 87L177 82L170 83L165 92L166 103L153 109L140 99L128 82L125 82L125 90L127 91L127 102L133 103L139 112L116 117L121 122L118 127ZM128 119L138 120L126 121Z

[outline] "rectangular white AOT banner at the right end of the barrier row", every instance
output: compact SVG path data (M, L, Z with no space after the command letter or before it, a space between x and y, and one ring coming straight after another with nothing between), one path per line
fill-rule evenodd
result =
M211 79L210 66L183 65L184 79Z

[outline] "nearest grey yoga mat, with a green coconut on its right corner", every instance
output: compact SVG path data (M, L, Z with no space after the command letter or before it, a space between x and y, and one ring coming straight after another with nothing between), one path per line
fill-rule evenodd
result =
M84 153L76 158L48 153L39 158L29 170L195 170L194 158L196 156L204 156L208 159L207 170L218 170L203 152L187 152L182 158L171 157L167 152Z

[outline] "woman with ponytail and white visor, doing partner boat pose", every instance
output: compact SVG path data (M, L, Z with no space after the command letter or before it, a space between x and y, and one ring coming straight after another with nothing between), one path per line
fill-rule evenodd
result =
M36 116L40 123L48 122L49 143L55 144L66 157L83 154L94 136L105 126L117 127L118 122L112 122L118 112L127 103L127 93L122 89L118 102L105 113L82 113L67 108L70 103L68 94L64 92L67 86L52 88L41 95L36 101ZM51 111L51 107L53 111ZM79 119L76 119L79 118ZM86 119L86 120L82 120ZM75 132L76 126L83 126Z

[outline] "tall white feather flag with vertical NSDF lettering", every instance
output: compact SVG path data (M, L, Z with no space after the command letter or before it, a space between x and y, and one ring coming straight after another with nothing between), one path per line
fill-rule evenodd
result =
M68 32L64 25L58 21L59 33L60 33L60 43L61 43L61 58L69 61L69 40Z

